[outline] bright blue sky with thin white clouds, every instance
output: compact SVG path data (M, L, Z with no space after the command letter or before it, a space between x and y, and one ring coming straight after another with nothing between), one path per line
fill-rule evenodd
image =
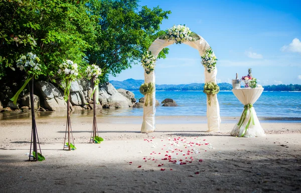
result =
M170 10L161 29L185 24L202 36L218 58L217 82L230 83L238 73L262 85L301 84L301 1L141 1L141 6ZM156 84L204 83L197 50L171 45L167 59L157 61ZM110 80L144 79L133 65Z

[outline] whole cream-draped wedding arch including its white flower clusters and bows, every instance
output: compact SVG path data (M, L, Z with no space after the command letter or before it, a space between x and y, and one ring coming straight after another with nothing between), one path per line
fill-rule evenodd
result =
M178 25L173 26L173 28L171 29L168 29L166 31L166 35L157 38L148 48L148 52L142 57L141 62L142 66L144 67L144 84L140 86L140 92L144 95L144 106L141 132L147 133L155 131L156 59L162 49L174 43L186 44L199 51L199 54L202 57L203 66L205 67L205 86L209 87L209 91L207 92L204 89L204 92L207 94L208 131L219 131L221 118L216 95L219 91L219 88L216 85L216 58L209 44L201 36L194 32L191 32L190 29L185 25ZM206 63L207 65L205 65L204 63ZM218 88L218 90L216 89L216 87Z

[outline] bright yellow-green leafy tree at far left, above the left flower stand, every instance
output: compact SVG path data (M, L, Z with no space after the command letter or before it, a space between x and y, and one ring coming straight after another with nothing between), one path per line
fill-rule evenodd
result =
M22 54L33 52L52 77L58 65L70 59L78 64L88 42L96 38L97 16L87 13L87 1L4 0L0 3L0 80L20 82L21 71L13 71ZM11 68L7 68L11 67ZM20 76L21 75L21 76ZM19 79L20 78L20 79ZM42 77L41 77L42 78Z

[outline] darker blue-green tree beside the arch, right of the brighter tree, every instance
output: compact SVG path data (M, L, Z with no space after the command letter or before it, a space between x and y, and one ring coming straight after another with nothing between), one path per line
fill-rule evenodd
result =
M132 64L140 63L141 55L160 35L160 24L168 19L170 11L159 7L139 7L136 0L90 0L91 16L100 16L97 38L90 42L85 53L89 64L98 65L103 75L116 76ZM165 58L164 49L158 58Z

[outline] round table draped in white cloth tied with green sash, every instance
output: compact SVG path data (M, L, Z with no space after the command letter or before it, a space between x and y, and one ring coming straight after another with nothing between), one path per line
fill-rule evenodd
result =
M262 137L265 136L257 118L253 104L260 97L263 88L234 88L233 94L244 105L244 110L238 123L231 131L232 136Z

